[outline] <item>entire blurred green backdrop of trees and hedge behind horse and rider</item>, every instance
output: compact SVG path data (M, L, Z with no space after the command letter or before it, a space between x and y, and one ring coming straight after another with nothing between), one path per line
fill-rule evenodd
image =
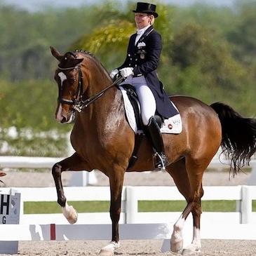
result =
M49 46L61 53L88 50L110 72L126 56L135 32L134 8L132 1L123 6L104 1L29 13L0 1L1 154L65 154L64 134L72 124L55 121L57 61ZM234 8L159 2L154 27L162 35L163 52L158 73L167 92L208 104L222 101L244 116L255 116L255 10L250 0L236 1ZM10 128L17 137L10 136Z

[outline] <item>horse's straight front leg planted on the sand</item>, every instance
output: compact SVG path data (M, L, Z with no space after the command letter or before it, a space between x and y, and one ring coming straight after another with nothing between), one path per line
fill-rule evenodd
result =
M112 241L100 250L100 256L112 256L114 250L120 247L119 219L121 213L121 194L123 189L124 172L119 171L118 177L109 177L111 190L110 217L112 220Z

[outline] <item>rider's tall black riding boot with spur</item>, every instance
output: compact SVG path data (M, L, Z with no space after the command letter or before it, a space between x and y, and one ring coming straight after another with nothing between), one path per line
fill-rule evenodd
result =
M163 153L163 138L154 116L149 119L147 131L154 151L154 168L155 170L166 170L168 161Z

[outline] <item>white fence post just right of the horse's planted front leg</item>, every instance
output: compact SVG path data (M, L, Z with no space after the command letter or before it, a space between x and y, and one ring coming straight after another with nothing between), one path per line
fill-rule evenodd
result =
M138 212L137 195L134 187L126 187L126 224L136 222Z

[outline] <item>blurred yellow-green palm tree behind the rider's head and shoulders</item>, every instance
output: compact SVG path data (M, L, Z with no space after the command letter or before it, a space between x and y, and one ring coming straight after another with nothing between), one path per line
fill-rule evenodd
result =
M135 33L134 3L128 3L123 9L118 8L113 2L106 2L100 7L95 7L98 25L92 33L83 34L72 44L72 49L83 49L93 53L104 64L109 72L118 67L126 57L126 48L130 35ZM171 8L169 7L169 11ZM157 5L159 18L156 19L155 29L163 37L163 54L166 58L167 49L172 39L168 8L163 4ZM166 49L166 54L165 53Z

